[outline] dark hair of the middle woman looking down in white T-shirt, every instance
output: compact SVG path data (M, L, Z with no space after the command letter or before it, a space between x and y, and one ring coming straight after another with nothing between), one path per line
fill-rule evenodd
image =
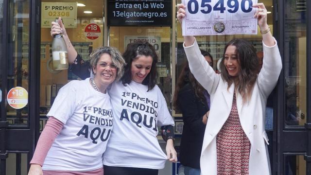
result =
M132 62L135 59L138 59L140 56L151 56L152 57L152 66L149 74L142 81L143 85L148 86L148 90L152 90L156 85L156 79L158 73L156 71L156 63L157 63L157 54L155 52L155 48L145 41L137 41L134 43L130 43L127 45L125 52L123 53L123 58L127 63L124 66L124 74L121 77L122 84L126 86L126 84L130 84L132 81Z

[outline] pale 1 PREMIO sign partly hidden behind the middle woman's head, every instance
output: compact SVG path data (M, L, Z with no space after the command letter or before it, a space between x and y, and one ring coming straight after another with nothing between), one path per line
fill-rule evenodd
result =
M128 44L136 41L147 41L154 46L158 56L158 62L161 62L161 37L160 36L124 36L124 50Z

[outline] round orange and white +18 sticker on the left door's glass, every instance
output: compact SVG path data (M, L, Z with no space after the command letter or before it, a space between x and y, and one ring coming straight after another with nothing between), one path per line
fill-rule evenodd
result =
M11 88L7 95L7 101L11 107L21 109L28 104L28 92L22 87Z

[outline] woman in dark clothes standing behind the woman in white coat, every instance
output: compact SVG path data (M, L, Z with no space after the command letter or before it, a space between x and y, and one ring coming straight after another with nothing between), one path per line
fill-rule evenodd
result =
M201 53L204 53L201 51ZM174 110L183 115L180 163L185 175L200 175L200 155L209 113L209 95L190 72L186 60L173 97Z

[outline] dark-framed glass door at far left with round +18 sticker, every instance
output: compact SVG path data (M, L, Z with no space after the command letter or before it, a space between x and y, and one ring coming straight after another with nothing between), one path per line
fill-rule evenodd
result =
M36 0L0 2L0 175L26 174L34 150L37 7Z

